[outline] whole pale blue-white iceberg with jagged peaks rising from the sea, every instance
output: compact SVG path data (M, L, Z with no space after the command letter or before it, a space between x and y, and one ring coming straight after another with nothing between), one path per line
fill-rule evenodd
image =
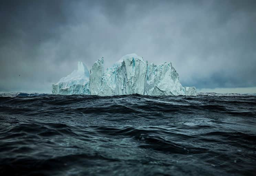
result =
M129 54L105 72L103 65L104 60L101 58L88 73L86 67L78 62L78 70L53 85L53 94L196 95L195 87L182 87L171 62L148 64L136 54Z

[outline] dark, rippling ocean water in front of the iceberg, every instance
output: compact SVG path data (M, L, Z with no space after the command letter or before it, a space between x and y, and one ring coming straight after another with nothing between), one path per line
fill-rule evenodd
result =
M256 175L256 96L0 94L2 175Z

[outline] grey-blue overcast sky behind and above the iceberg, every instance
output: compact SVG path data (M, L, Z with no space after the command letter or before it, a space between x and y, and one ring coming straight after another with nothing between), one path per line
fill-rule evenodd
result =
M136 53L183 86L256 92L255 0L8 0L0 22L0 91L51 92L77 61Z

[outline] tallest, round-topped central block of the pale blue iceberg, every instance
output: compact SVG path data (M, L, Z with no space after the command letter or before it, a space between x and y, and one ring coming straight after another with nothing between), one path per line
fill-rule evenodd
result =
M136 54L121 59L102 75L102 87L97 95L144 94L146 62Z

